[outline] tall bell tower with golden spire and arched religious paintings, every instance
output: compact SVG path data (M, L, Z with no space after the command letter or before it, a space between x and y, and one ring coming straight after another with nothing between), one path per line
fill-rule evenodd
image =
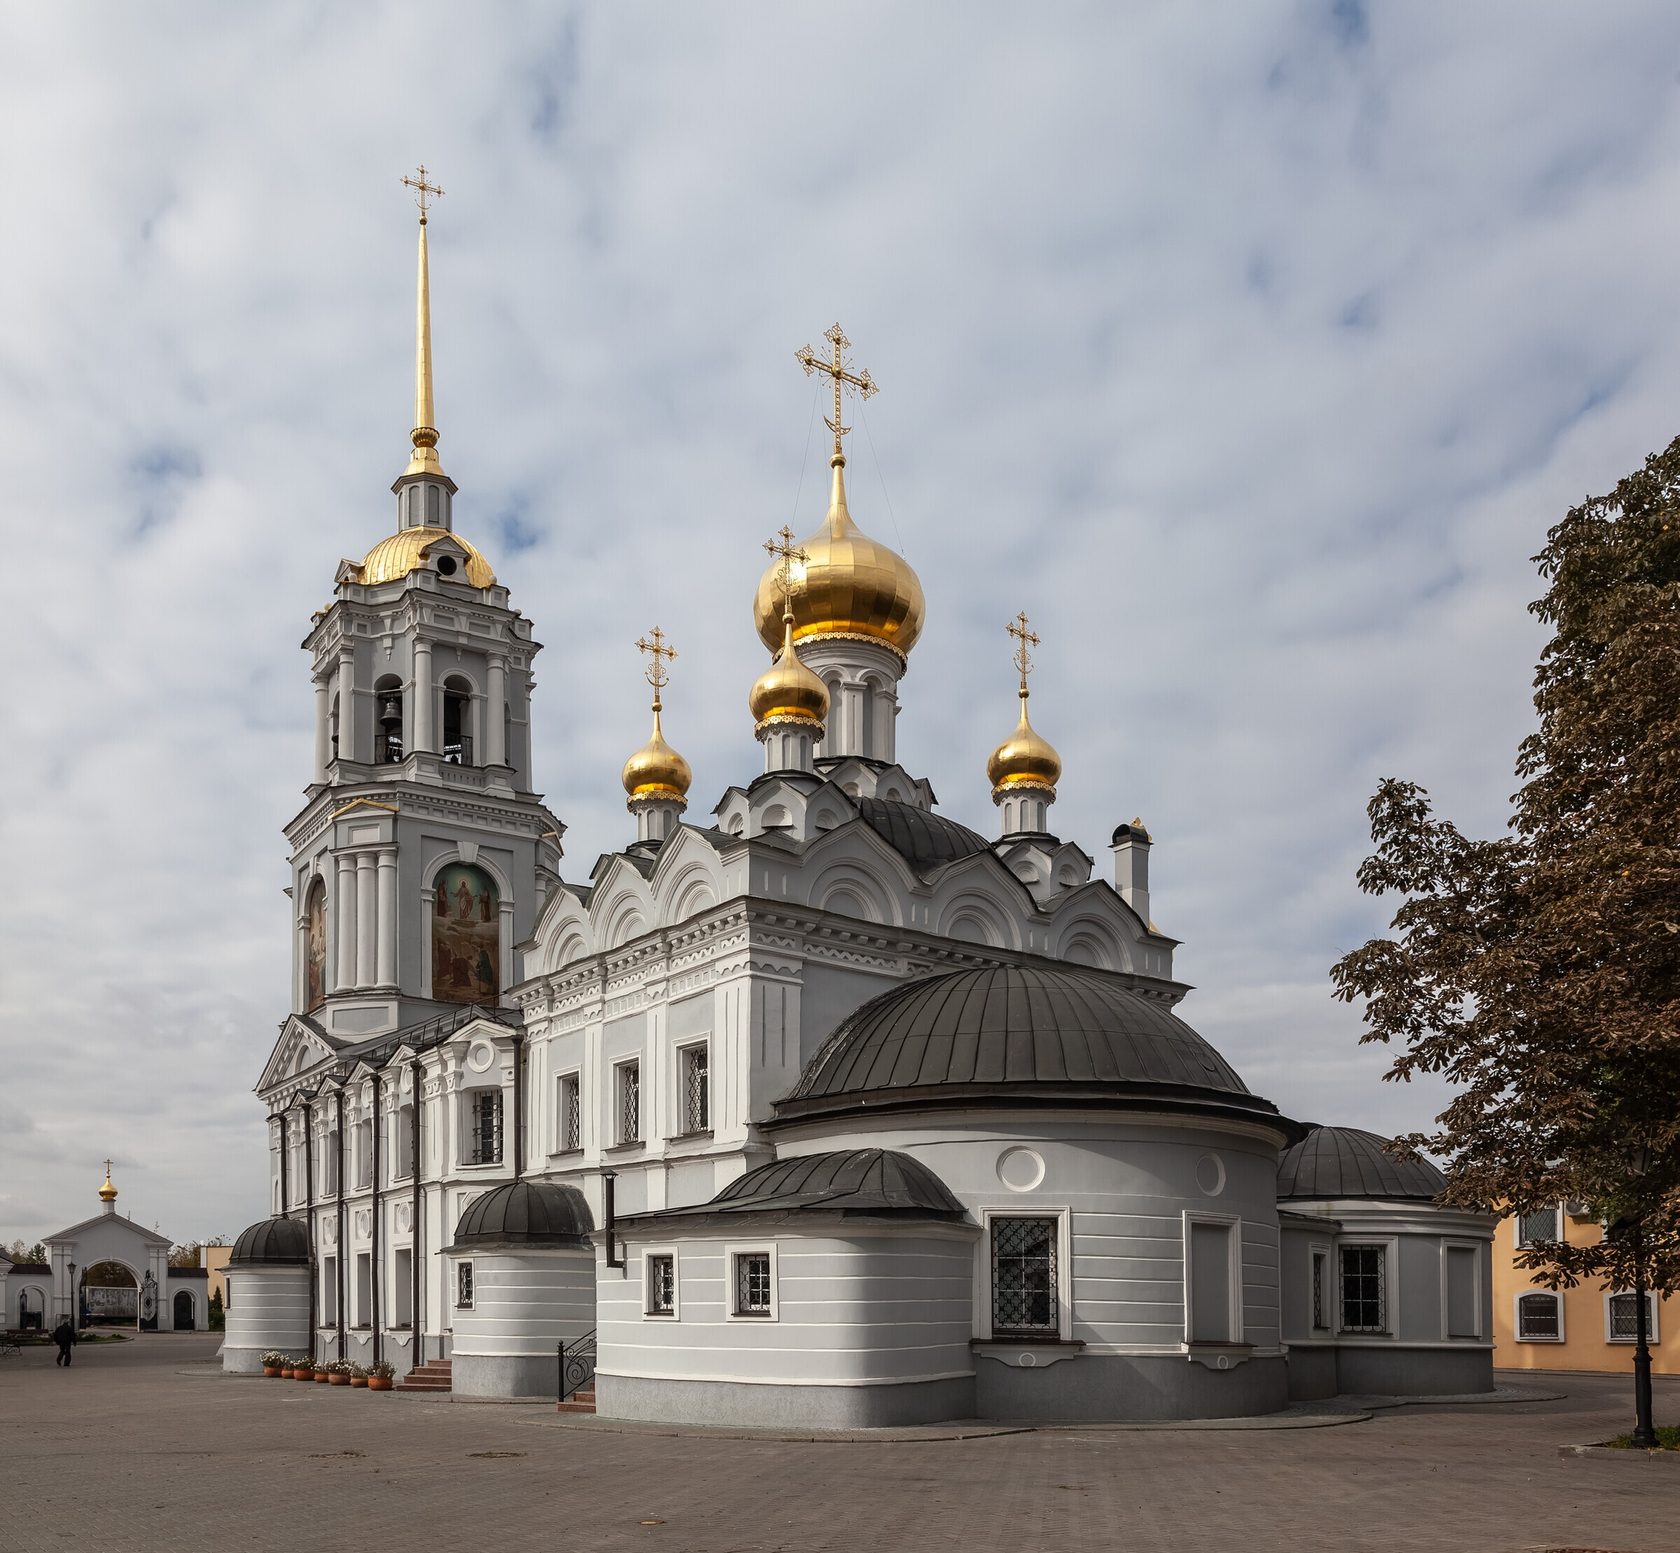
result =
M396 526L338 566L304 650L314 768L287 827L292 1012L361 1040L440 1012L494 1008L558 877L564 827L531 778L541 644L484 553L455 531L432 378L422 166L415 410Z

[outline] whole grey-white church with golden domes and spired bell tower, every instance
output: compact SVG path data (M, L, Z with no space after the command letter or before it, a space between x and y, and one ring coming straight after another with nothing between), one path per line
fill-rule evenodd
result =
M827 340L827 518L743 576L759 770L689 817L652 632L625 845L566 879L539 647L438 461L422 207L395 531L304 639L272 1217L228 1264L225 1365L554 1395L566 1345L601 1413L800 1427L1490 1388L1492 1220L1292 1121L1179 1017L1144 825L1100 871L1053 832L1025 615L991 834L899 765L926 605L852 518L842 393L874 383Z

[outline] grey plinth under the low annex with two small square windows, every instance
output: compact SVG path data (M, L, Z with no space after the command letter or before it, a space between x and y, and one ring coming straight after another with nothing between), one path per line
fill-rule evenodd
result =
M457 1377L460 1365L455 1360ZM595 1412L603 1419L743 1429L892 1429L973 1419L974 1382L959 1377L887 1387L776 1387L596 1375Z

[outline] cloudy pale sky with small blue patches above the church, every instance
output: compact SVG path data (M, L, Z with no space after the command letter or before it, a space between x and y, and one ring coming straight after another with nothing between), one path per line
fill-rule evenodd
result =
M1025 608L1053 829L1105 874L1146 820L1179 1012L1289 1114L1428 1124L1329 966L1396 904L1381 778L1504 827L1530 556L1680 432L1672 5L0 0L0 1240L108 1155L176 1240L265 1212L299 642L395 528L420 161L570 879L633 837L654 624L689 819L759 770L838 319L852 514L927 595L900 761L996 832Z

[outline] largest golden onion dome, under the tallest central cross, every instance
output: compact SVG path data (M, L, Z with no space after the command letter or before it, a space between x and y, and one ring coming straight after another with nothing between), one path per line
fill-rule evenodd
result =
M823 526L801 543L803 566L795 566L793 639L872 637L907 654L922 632L922 585L904 556L877 545L852 521L845 504L845 457L830 461L833 496ZM753 602L764 645L781 640L780 565L759 578Z

